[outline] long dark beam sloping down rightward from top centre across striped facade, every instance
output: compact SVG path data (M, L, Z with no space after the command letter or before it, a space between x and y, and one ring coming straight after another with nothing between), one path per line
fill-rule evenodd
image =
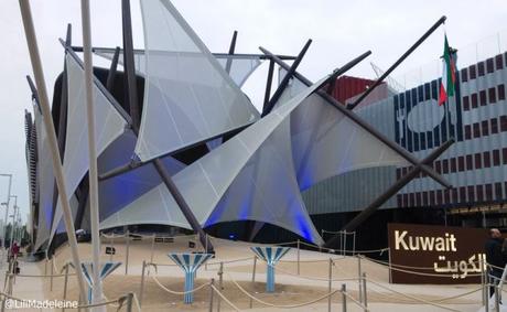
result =
M274 54L272 54L271 52L269 52L268 50L261 47L260 49L265 54L267 55L270 55L271 56L271 60L273 60L279 66L283 67L285 71L288 71L290 68L290 66L283 62L282 60L278 58ZM298 72L294 72L294 77L296 77L298 79L301 80L301 83L303 83L304 85L306 86L311 86L312 85L312 82L310 82L306 77L304 77L303 75L301 75L300 73ZM400 146L398 146L397 143L392 142L389 138L387 138L385 135L380 133L379 131L377 131L377 129L375 129L374 127L371 127L368 122L364 121L359 116L357 116L355 112L348 110L347 108L344 107L343 104L341 104L339 101L337 101L335 98L331 97L328 94L326 94L324 90L319 90L316 92L316 94L319 94L320 96L322 96L326 103L331 106L333 106L334 108L336 108L337 110L339 110L343 115L345 115L347 118L349 118L350 120L353 120L354 122L356 122L359 127L362 127L363 129L365 129L366 131L368 131L369 133L371 133L371 136L374 136L375 138L377 138L378 140L380 140L382 143L385 143L386 146L388 146L389 148L391 148L393 151L396 151L398 154L400 154L402 158L404 158L408 162L410 162L411 164L413 165L418 165L419 164L419 161L411 154L409 153L407 150L404 150L403 148L401 148ZM425 168L425 166L422 166L421 168L422 171L424 171L428 175L430 175L433 180L435 180L436 182L439 182L442 186L446 187L446 189L451 189L452 185L445 181L440 174L438 174L434 170L431 170L430 168Z

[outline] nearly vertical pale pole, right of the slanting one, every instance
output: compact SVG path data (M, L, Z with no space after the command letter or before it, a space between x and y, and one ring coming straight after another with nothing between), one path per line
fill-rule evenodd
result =
M89 0L80 1L83 23L83 53L85 67L85 94L86 94L86 119L88 122L88 160L89 160L89 211L91 224L91 248L93 248L93 297L91 303L99 303L103 300L103 284L100 281L100 235L98 214L98 181L97 181L97 152L95 144L95 107L93 90L93 60L91 60L91 26L89 17ZM94 311L106 311L106 306L95 308Z

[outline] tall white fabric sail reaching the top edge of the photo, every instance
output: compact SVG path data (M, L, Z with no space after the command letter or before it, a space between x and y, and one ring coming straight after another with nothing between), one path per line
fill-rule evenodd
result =
M147 161L258 119L168 0L143 0L145 87L137 155Z

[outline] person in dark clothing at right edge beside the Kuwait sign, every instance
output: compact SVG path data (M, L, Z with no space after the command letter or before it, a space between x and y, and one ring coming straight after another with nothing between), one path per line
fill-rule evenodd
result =
M506 257L501 251L504 245L504 238L498 228L489 229L489 239L486 241L486 261L488 263L488 277L489 283L489 295L495 293L495 284L498 284L501 275L504 273L504 267L506 265Z

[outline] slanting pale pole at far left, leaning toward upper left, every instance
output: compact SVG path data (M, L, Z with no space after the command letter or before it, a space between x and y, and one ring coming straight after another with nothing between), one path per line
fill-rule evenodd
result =
M35 77L35 84L39 92L39 100L42 109L42 116L44 117L44 128L46 130L47 140L50 143L50 150L53 161L53 171L56 179L56 186L58 187L58 195L64 213L65 229L67 232L68 244L71 245L72 251L72 259L77 275L79 293L82 298L86 298L85 280L83 278L83 269L80 267L79 254L77 251L76 230L74 228L71 205L68 204L67 190L65 186L64 173L62 168L62 158L60 157L58 144L56 142L56 133L53 126L53 117L51 115L50 100L47 97L44 73L42 71L41 56L39 55L39 46L35 37L35 29L33 26L32 12L28 0L19 1L24 32L26 35L26 44L29 47L33 74Z

